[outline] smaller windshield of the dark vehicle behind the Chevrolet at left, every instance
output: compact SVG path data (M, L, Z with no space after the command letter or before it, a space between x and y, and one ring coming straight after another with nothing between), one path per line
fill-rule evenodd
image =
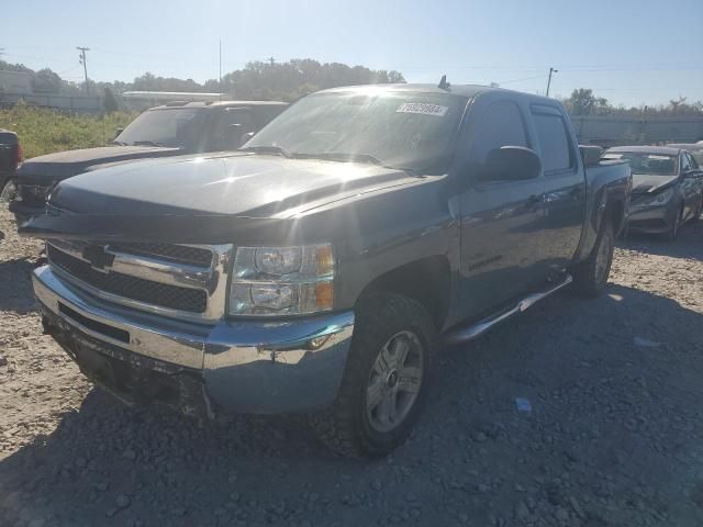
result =
M136 117L114 142L123 145L185 148L194 141L204 112L196 108L150 110Z

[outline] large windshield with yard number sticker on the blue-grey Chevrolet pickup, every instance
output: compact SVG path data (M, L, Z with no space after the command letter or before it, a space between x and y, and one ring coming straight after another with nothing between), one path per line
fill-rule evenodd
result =
M442 173L466 103L466 98L448 93L373 90L309 96L244 149Z

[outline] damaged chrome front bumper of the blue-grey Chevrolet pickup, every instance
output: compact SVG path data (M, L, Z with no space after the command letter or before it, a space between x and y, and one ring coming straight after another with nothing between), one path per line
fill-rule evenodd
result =
M213 325L174 321L87 295L47 266L34 271L33 285L42 312L76 333L76 341L87 335L146 362L194 371L215 410L284 413L332 404L354 330L352 312Z

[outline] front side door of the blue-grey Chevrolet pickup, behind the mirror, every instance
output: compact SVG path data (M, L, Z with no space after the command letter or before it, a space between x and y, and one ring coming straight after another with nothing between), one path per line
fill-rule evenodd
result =
M460 206L460 310L462 318L492 311L544 280L539 266L542 177L472 181L488 154L503 146L532 147L525 109L510 99L473 108L457 152L466 158ZM477 103L475 103L476 105ZM464 150L464 152L462 152Z

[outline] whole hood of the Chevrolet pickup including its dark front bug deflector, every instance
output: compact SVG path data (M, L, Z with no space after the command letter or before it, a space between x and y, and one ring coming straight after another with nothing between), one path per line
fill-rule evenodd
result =
M250 154L140 161L60 182L47 214L24 223L19 233L179 244L330 240L364 222L373 228L379 215L421 214L425 194L395 212L370 202L435 180L373 165ZM358 208L360 202L367 209ZM350 203L357 204L352 216L349 210L331 213ZM320 211L326 211L323 222Z

